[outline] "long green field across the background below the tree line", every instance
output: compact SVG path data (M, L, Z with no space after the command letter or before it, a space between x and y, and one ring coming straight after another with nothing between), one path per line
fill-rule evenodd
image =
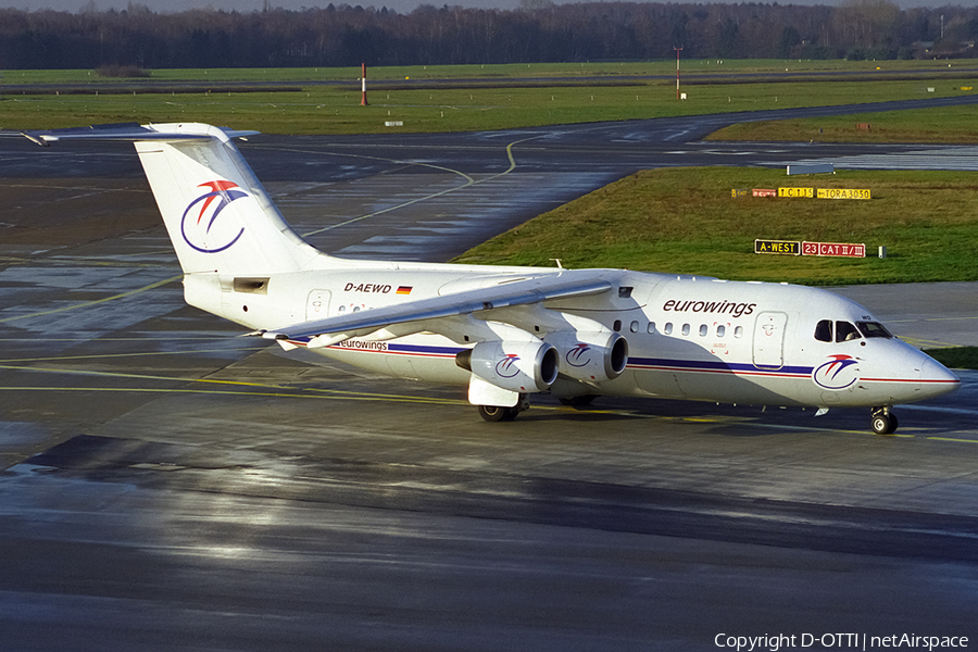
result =
M676 99L675 61L372 68L367 73L369 106L360 105L359 68L150 71L148 79L101 78L90 71L8 71L0 85L0 128L193 120L294 135L488 130L954 97L975 92L962 88L978 88L978 63L970 62L955 62L950 70L946 63L917 61L730 61L720 65L691 60L682 65L685 101ZM802 76L791 82L765 80L786 68ZM718 71L724 78L701 78ZM815 76L826 73L831 75ZM849 79L840 76L843 73L860 76ZM662 78L637 79L636 75ZM317 84L336 80L346 83ZM444 80L456 82L449 87L436 85ZM103 85L98 95L96 83ZM236 86L230 92L181 92L184 83L198 88ZM298 90L241 91L260 83ZM38 95L8 90L16 84L70 88ZM933 128L942 129L942 114L929 115ZM403 125L391 127L388 122ZM950 138L960 141L961 133L954 125ZM876 138L876 134L856 133L851 139ZM899 131L886 137L902 139Z

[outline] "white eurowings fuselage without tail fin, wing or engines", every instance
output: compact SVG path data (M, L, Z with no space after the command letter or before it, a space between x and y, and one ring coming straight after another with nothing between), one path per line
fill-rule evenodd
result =
M274 329L562 273L527 267L351 265L243 281L188 275L187 300L250 328ZM879 406L939 396L957 384L953 374L899 339L865 337L855 327L837 327L876 319L857 303L825 290L618 269L605 271L605 278L618 288L611 298L553 300L543 308L592 319L620 334L628 342L627 368L603 381L581 381L561 374L550 388L557 397ZM214 291L215 286L220 292ZM220 301L215 301L217 297ZM487 311L479 318L492 321L494 315ZM530 322L531 315L518 326L532 333ZM849 338L833 334L828 341L817 339L816 329L825 322L839 335L850 333ZM308 343L290 340L285 346ZM354 337L310 350L394 377L467 385L472 374L455 364L456 354L466 348L471 344L443 336L415 334ZM562 369L573 362L561 360Z

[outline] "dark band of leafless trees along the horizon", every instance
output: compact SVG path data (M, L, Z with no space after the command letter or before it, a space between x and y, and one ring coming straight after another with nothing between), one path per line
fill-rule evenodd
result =
M978 8L523 0L517 10L329 4L288 11L0 10L0 68L293 67L971 57Z

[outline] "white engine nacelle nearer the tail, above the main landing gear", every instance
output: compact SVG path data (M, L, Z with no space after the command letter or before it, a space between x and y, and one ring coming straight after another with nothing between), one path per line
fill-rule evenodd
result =
M528 393L549 389L560 363L556 349L537 340L479 342L459 353L455 364L497 387Z

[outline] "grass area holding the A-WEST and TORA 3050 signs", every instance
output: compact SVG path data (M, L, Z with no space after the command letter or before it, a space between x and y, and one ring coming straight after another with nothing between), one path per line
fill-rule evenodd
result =
M731 198L731 189L868 188L868 201ZM833 286L978 279L978 173L642 172L546 213L457 262L627 267ZM588 238L568 238L568 234ZM865 259L760 255L754 239L862 242ZM876 256L886 246L888 258Z

